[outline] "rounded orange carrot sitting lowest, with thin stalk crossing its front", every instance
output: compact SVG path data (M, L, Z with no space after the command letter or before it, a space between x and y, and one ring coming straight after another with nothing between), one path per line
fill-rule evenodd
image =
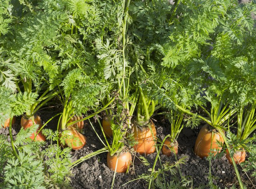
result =
M117 168L116 168L116 163ZM110 153L107 153L107 167L109 167L111 170L115 170L116 172L123 173L126 172L128 169L128 166L130 166L131 163L131 153L130 152L124 152L115 154L113 156L110 155Z

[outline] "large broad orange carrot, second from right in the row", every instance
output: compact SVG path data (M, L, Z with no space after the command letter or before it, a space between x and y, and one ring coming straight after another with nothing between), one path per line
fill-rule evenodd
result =
M208 157L211 151L210 149L216 149L216 150L221 150L222 148L218 146L217 141L224 142L222 136L220 133L218 133L216 130L213 130L213 136L212 136L212 131L208 128L208 124L205 124L195 141L195 148L194 152L196 155L199 157ZM212 144L211 144L212 143ZM217 152L214 153L216 155Z

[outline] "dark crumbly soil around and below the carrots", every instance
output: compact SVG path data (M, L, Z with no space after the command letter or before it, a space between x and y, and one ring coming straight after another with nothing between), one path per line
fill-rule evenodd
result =
M50 119L52 116L58 113L58 109L54 112L45 111L39 112L43 124ZM20 117L17 118L15 125L12 128L12 134L15 135L19 132L20 129ZM91 119L96 131L101 133L99 125L96 124L93 119ZM157 137L160 140L163 140L164 136L168 135L170 131L170 124L168 121L164 120L162 117L155 117L153 119L156 124L157 129ZM46 128L56 129L58 123L58 117L50 121ZM203 124L202 124L203 125ZM201 159L194 154L194 145L197 134L199 133L200 128L197 129L189 129L184 128L180 133L178 138L178 155L177 158L180 159L184 156L187 156L187 162L185 165L180 165L180 170L183 176L187 176L188 179L193 179L193 188L197 188L201 186L201 188L208 188L207 184L209 182L209 162L206 159ZM80 150L72 151L73 161L78 160L85 155L95 152L103 148L104 146L97 138L95 132L88 122L85 121L84 135L87 137L86 145ZM8 128L0 129L0 134L9 135ZM100 134L100 137L103 139L103 135ZM147 161L150 163L149 166L145 166L142 161L138 158L140 155L136 153L136 157L134 159L133 170L129 172L129 174L117 173L114 181L114 188L117 189L134 189L134 188L147 188L147 182L144 179L138 179L138 175L142 174L150 174L148 171L149 168L152 167L154 160L156 158L157 153L153 153L147 156L144 156ZM133 155L134 158L134 155ZM161 162L170 162L174 163L175 157L170 156L167 157L160 152ZM107 167L107 153L102 153L100 155L94 156L84 162L80 163L76 167L73 168L71 176L71 186L74 189L109 189L111 188L112 178L114 172ZM159 168L159 162L157 162L156 170ZM241 167L238 165L238 170L240 175L242 175L242 180L244 183L248 184L248 188L251 188L251 184L249 179L243 174ZM235 177L235 172L232 167L228 163L228 160L224 157L217 160L211 161L211 174L213 177L213 184L222 188L230 188L232 184L238 186L237 179ZM250 174L250 173L249 173ZM166 180L170 181L170 172L166 172L165 176ZM129 182L134 180L132 182ZM125 184L126 182L129 182ZM255 183L255 180L252 180ZM125 185L124 185L125 184Z

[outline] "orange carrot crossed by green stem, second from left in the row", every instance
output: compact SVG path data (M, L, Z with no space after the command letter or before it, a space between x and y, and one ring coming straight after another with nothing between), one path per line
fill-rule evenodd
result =
M34 123L33 123L33 119L34 119ZM26 130L27 128L30 128L33 124L38 124L40 129L43 124L42 124L42 120L40 118L40 116L36 115L36 116L32 116L29 119L26 119L25 117L21 117L21 126ZM37 131L36 131L37 133ZM42 134L42 132L40 131L40 133L38 133L38 135L36 135L35 138L35 133L33 133L29 138L31 138L32 140L36 140L36 141L45 141L45 136Z

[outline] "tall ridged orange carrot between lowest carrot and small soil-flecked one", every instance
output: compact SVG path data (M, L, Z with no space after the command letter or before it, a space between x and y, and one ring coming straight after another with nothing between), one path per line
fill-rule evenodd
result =
M151 129L150 129L150 128ZM156 127L152 120L150 120L149 125L142 126L141 128L133 124L134 128L134 139L138 142L137 145L134 145L133 148L136 152L140 154L150 154L154 153L156 150L155 140L156 140ZM152 130L152 131L151 131ZM153 136L153 135L154 136Z

